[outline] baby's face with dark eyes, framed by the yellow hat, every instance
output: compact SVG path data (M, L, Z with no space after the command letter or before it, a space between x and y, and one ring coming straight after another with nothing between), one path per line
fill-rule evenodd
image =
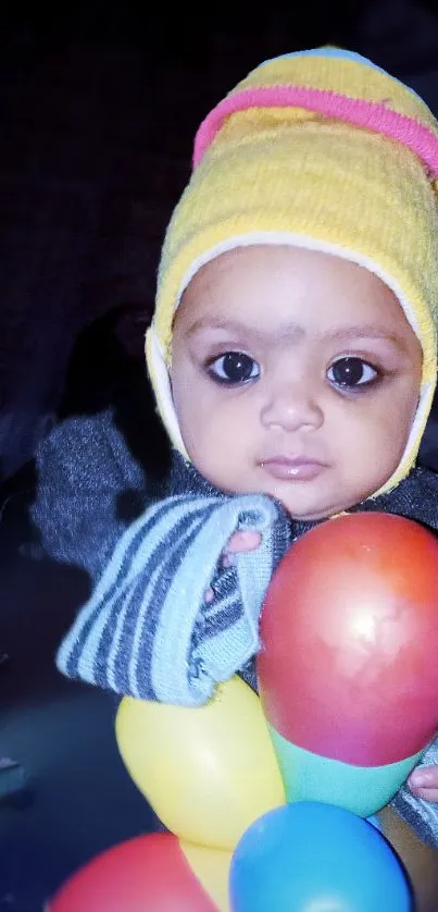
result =
M216 488L321 519L396 470L422 349L389 288L354 263L247 247L203 267L176 312L172 389L187 452Z

